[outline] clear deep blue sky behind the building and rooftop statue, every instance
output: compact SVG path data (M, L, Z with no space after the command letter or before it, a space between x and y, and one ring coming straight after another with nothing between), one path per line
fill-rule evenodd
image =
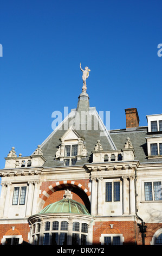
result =
M53 131L53 111L76 108L79 68L90 68L90 106L126 127L125 108L162 113L161 0L1 1L0 168L15 147L29 156Z

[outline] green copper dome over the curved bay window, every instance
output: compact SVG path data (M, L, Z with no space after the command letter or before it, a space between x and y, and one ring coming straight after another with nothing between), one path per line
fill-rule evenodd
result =
M66 213L66 214L86 214L89 215L86 207L70 198L64 198L59 202L47 205L40 214L56 214L56 213Z

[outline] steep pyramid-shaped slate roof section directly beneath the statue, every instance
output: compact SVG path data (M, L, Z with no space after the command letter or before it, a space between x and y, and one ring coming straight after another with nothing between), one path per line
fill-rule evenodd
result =
M115 150L116 146L106 130L95 107L89 107L89 96L81 93L77 103L77 108L72 109L69 115L56 127L49 137L41 144L41 149L46 163L44 167L62 166L62 162L55 159L55 153L61 145L60 138L65 135L69 127L72 126L79 136L85 138L85 145L88 156L76 162L75 165L82 165L92 162L92 151L96 141L100 139L103 150Z

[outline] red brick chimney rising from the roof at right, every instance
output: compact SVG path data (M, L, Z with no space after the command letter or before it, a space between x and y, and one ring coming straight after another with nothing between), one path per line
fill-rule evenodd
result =
M126 127L133 128L139 126L139 116L137 108L126 108Z

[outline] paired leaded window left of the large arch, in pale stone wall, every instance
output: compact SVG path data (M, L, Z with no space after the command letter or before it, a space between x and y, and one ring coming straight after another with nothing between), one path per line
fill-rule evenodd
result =
M13 198L12 198L12 205L17 205L18 204L18 198L19 197L20 197L19 204L20 205L25 204L26 190L27 190L27 187L21 187L21 192L20 192L20 187L14 187L14 195L13 195Z

